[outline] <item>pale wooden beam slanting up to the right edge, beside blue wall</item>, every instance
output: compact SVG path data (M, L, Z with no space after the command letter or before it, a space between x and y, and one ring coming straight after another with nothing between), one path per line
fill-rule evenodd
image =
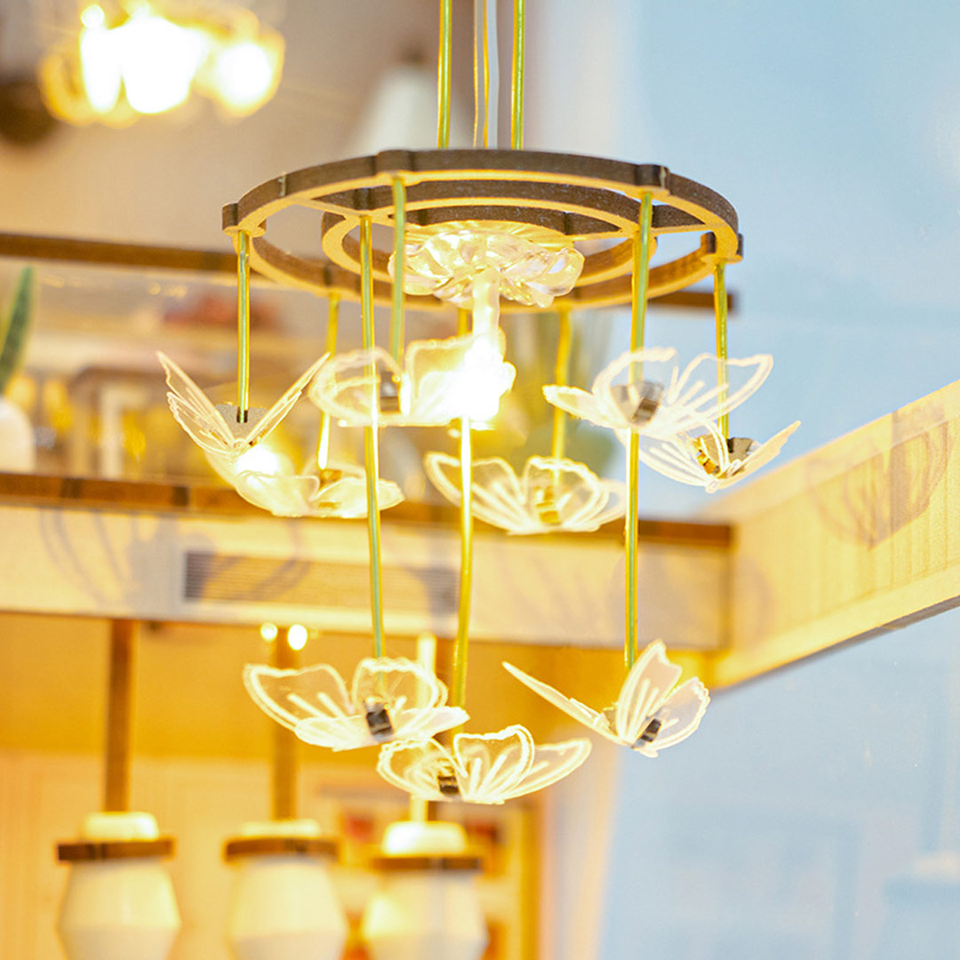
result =
M960 382L719 501L734 525L714 686L960 605Z

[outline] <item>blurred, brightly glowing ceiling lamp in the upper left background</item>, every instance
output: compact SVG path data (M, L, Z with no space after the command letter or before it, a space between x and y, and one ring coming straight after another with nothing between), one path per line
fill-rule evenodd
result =
M247 116L276 93L283 38L248 10L187 19L128 0L113 15L93 4L80 20L38 70L47 106L68 123L124 127L179 107L192 91Z

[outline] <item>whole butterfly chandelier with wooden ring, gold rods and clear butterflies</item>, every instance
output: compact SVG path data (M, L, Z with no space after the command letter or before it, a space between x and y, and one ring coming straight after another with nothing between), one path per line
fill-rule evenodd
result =
M438 149L390 150L283 174L223 211L238 254L238 387L235 404L214 406L167 356L170 406L211 466L237 492L277 516L366 516L370 545L372 657L353 677L332 667L250 665L253 700L300 739L331 750L380 747L377 770L420 801L500 804L560 780L589 753L589 741L535 744L518 726L463 732L474 516L515 536L595 530L625 517L626 676L617 701L593 709L534 677L507 670L554 706L643 756L657 756L698 726L708 704L697 679L659 641L637 647L637 483L645 466L714 492L768 463L797 428L763 443L732 434L731 411L772 368L767 355L727 350L727 264L741 256L730 203L657 164L523 149L524 5L516 0L511 148L489 145L489 23L475 31L472 149L449 149L450 4L441 5ZM481 83L480 78L484 78ZM306 208L319 220L322 256L277 247L271 222ZM374 242L387 236L388 242ZM651 265L663 234L688 234L687 252ZM250 272L306 289L329 303L327 349L270 409L250 404ZM715 352L682 364L673 348L644 338L648 300L711 277ZM360 303L362 348L337 351L339 305ZM373 307L390 308L389 343L374 342ZM589 391L567 382L574 311L631 310L624 352L596 373ZM405 311L457 310L456 336L407 342ZM553 311L558 318L549 451L518 475L503 459L474 459L475 429L495 429L512 387L501 311ZM315 458L302 469L263 456L262 442L301 397L321 410ZM614 432L626 484L598 477L565 454L568 417ZM420 663L385 655L380 513L401 493L379 474L384 429L448 426L456 455L427 454L434 486L460 509L460 599L449 691ZM364 431L365 468L331 461L334 428ZM679 685L678 685L679 684ZM454 731L441 742L438 734Z

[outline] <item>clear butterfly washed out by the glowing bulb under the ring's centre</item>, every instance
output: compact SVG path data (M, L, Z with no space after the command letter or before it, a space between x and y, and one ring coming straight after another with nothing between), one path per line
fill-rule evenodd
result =
M348 426L490 420L516 376L513 364L503 359L505 349L500 330L419 340L406 348L402 370L382 348L350 350L326 358L309 396Z

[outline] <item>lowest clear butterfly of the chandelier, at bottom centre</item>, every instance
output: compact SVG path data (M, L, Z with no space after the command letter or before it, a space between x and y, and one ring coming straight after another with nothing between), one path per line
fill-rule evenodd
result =
M396 742L380 751L377 773L427 801L503 804L573 773L590 752L588 740L537 746L525 727L458 733L452 750L436 740Z

